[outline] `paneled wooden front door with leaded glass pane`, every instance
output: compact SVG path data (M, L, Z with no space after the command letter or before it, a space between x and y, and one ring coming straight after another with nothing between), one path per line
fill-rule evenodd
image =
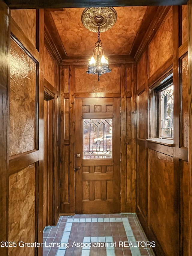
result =
M75 100L75 211L120 212L120 98Z

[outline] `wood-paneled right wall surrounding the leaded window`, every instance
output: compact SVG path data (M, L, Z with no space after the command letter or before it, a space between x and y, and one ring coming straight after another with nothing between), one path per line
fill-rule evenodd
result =
M137 214L157 255L188 255L188 61L186 6L173 6L137 62ZM174 21L174 22L173 22ZM157 47L158 46L158 47ZM174 147L156 138L152 90L173 72ZM181 102L177 104L177 102Z

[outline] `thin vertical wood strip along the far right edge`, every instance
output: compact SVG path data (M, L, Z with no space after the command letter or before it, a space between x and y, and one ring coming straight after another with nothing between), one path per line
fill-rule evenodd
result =
M192 0L188 1L188 111L189 111L189 255L192 254Z

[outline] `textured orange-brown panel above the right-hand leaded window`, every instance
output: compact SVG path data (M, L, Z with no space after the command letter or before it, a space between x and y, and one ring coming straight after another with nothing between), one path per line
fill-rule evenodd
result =
M173 12L167 14L160 29L149 44L149 77L173 54Z

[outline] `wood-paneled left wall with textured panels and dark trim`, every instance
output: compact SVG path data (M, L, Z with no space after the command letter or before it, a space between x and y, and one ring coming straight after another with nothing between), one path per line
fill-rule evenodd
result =
M43 191L46 184L43 172L44 93L54 98L54 216L51 224L55 224L59 216L60 60L53 47L50 47L49 38L46 37L44 44L43 10L12 10L10 16L8 8L0 1L0 12L0 54L3 63L7 63L1 65L0 70L4 101L1 112L1 159L4 159L1 162L1 241L42 242L45 226L43 218L46 218L43 216ZM48 70L44 63L50 59L52 65L49 65ZM44 79L44 73L49 81ZM42 249L30 247L24 252L19 246L9 249L5 247L1 248L1 254L42 255Z

